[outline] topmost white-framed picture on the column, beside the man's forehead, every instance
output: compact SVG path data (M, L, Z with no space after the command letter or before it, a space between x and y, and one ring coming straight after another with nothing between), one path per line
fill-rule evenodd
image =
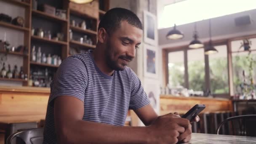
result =
M148 11L143 12L144 21L144 42L150 45L157 45L157 20L156 16Z

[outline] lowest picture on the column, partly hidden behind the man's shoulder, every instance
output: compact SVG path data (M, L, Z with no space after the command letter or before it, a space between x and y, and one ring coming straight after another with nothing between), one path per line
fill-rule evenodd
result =
M144 78L144 91L150 100L150 104L157 114L160 110L160 86L158 80Z

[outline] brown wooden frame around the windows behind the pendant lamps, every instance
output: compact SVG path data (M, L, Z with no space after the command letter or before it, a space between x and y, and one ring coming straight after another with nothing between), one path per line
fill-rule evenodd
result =
M232 48L231 42L234 40L243 40L243 39L251 39L256 38L256 34L253 35L245 35L239 37L230 37L225 39L213 40L212 44L214 46L217 45L227 45L227 68L228 68L228 83L229 83L229 93L220 93L220 94L213 94L214 97L220 98L230 98L230 96L234 96L234 85L233 85L233 66L232 66ZM208 41L203 43L205 47L208 46ZM184 51L184 79L185 79L185 86L189 88L188 82L188 67L187 67L187 51L192 48L188 48L188 45L181 45L177 47L167 47L162 48L163 54L163 85L167 85L168 83L168 53L175 52L175 51ZM252 50L256 51L256 50ZM240 51L242 52L242 51ZM205 55L205 88L210 88L210 75L209 75L209 57Z

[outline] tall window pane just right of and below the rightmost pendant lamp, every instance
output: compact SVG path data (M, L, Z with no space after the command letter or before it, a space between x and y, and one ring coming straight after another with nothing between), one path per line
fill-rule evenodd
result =
M209 72L211 93L229 93L228 68L227 68L227 45L214 46L219 53L210 54Z

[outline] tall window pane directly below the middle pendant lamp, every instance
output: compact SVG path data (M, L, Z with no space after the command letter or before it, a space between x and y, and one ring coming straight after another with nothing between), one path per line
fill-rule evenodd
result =
M205 90L205 57L204 49L187 51L189 89L194 91Z

